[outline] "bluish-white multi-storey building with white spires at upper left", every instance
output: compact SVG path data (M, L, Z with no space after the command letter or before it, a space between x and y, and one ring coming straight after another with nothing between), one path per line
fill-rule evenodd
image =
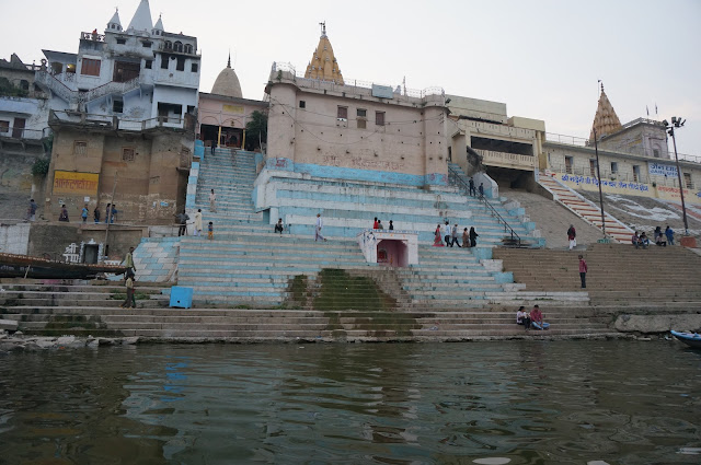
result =
M78 54L43 50L36 82L50 91L54 111L116 116L135 129L183 127L194 115L199 88L197 38L164 31L141 0L126 30L118 12L104 34L82 32ZM137 125L138 123L138 125Z

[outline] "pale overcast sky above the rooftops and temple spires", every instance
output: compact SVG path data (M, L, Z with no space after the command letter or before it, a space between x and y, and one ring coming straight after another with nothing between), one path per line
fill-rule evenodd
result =
M78 51L119 8L126 28L140 0L0 0L0 58L31 63L42 49ZM59 8L60 5L60 8ZM326 32L344 79L502 102L508 116L588 138L598 81L621 123L682 116L679 153L701 158L701 1L676 0L150 0L153 22L196 36L200 91L232 65L261 100L273 61L303 72ZM657 107L657 114L655 113ZM671 141L669 142L671 150Z

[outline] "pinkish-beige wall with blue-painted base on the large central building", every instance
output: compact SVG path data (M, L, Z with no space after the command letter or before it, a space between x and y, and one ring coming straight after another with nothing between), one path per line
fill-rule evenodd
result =
M291 79L268 84L268 167L412 185L447 183L443 95L388 100L356 94L347 85L327 92L298 84ZM346 108L347 118L338 118L338 107ZM377 112L384 114L384 125L376 124Z

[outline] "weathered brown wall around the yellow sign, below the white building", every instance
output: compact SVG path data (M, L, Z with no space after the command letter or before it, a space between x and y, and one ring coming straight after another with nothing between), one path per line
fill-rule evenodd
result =
M87 142L84 155L74 153L76 141ZM134 161L124 159L124 149L134 150ZM78 221L88 197L91 220L93 209L100 205L104 221L106 204L113 202L120 223L170 224L185 204L186 171L193 149L192 135L166 129L115 136L58 128L47 176L49 201L45 208L51 212L49 218L57 219L60 200L66 204L70 220ZM53 187L56 171L99 174L97 191L56 194ZM115 177L117 187L112 201Z

